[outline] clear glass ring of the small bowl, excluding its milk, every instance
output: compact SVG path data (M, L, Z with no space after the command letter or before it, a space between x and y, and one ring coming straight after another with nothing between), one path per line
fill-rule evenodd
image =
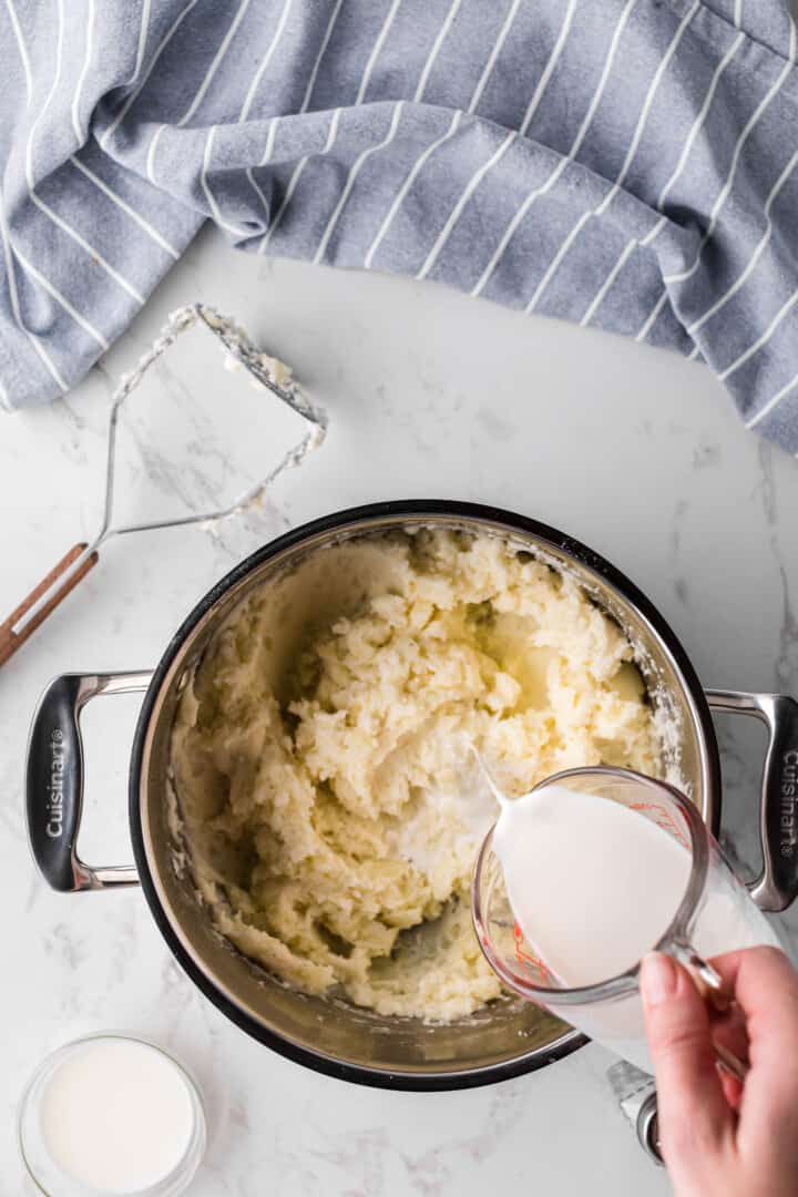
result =
M109 1197L108 1190L95 1189L77 1180L54 1160L44 1137L41 1116L48 1084L57 1069L71 1056L80 1052L86 1044L118 1043L120 1040L139 1044L158 1052L177 1070L185 1083L191 1104L193 1128L185 1152L169 1173L144 1189L130 1189L123 1192L114 1190L114 1197L178 1197L179 1193L185 1192L194 1179L206 1147L205 1108L196 1082L173 1056L157 1044L140 1039L138 1035L124 1034L124 1032L100 1032L74 1039L54 1051L42 1061L23 1093L17 1120L19 1150L30 1179L37 1190L44 1193L44 1197Z

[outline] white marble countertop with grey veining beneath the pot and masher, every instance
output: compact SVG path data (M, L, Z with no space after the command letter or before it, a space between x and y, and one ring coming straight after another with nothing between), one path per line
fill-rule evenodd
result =
M111 381L167 312L195 299L234 314L292 363L331 432L261 512L219 536L189 529L110 545L0 672L0 1191L23 1191L13 1116L26 1075L50 1047L111 1027L162 1041L200 1078L211 1137L196 1197L666 1192L597 1047L500 1086L407 1094L328 1080L246 1038L182 976L141 893L63 897L39 880L23 822L28 725L57 673L154 664L209 585L280 530L402 497L476 499L564 528L650 595L705 683L798 693L798 463L747 433L700 365L431 284L233 254L207 235L68 401L4 418L4 608L96 528ZM202 377L188 347L154 384L162 406L182 405L185 417L179 377L189 387ZM189 456L184 473L158 451L145 458L144 480L164 502L230 472L190 438ZM86 715L81 847L99 863L129 858L135 713L136 699L118 698ZM751 863L759 742L721 731L730 838Z

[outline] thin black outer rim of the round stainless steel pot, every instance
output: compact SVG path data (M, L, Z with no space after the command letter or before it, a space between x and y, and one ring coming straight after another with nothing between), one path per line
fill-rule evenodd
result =
M276 1032L269 1031L252 1019L234 1002L232 1002L200 968L193 955L187 950L172 926L162 905L156 882L153 879L147 851L145 846L144 828L141 821L141 795L140 779L147 742L147 734L153 713L153 707L158 700L162 685L169 674L170 667L183 646L183 643L194 627L203 619L208 612L223 598L237 583L242 582L254 570L258 569L272 558L292 548L312 536L328 531L343 531L354 529L359 524L367 524L374 519L419 519L424 517L434 519L438 517L455 518L468 522L486 523L493 527L505 528L508 533L520 533L534 536L535 540L548 543L552 548L572 557L579 565L596 573L604 582L619 593L625 602L633 606L636 613L651 627L653 634L663 643L666 651L681 676L687 697L693 706L695 721L700 733L702 748L702 764L706 771L706 810L705 821L711 830L717 833L720 821L720 758L718 741L709 713L709 706L703 694L703 689L690 660L682 648L678 638L660 615L654 604L645 594L631 582L626 575L621 573L610 561L601 557L593 549L574 540L566 533L548 524L541 523L528 516L518 515L501 508L494 508L481 503L461 502L453 499L394 499L380 503L363 504L347 508L331 515L322 516L293 528L275 540L269 541L256 549L225 577L223 577L207 594L195 604L189 615L183 620L177 631L171 637L158 666L156 667L150 687L145 694L144 703L136 722L133 751L130 755L129 771L129 800L128 815L130 825L130 839L135 857L139 879L147 899L151 913L160 930L167 947L176 958L183 971L223 1014L225 1014L236 1026L245 1031L254 1039L273 1049L279 1055L287 1057L299 1064L312 1068L317 1073L323 1073L339 1080L352 1081L359 1084L367 1084L377 1088L435 1092L445 1089L467 1089L482 1084L492 1084L498 1081L510 1080L522 1076L525 1073L535 1071L558 1059L562 1059L584 1046L590 1040L578 1031L569 1031L560 1039L556 1039L548 1049L536 1047L529 1052L504 1061L500 1064L488 1064L479 1069L463 1069L462 1071L438 1071L438 1073L409 1073L388 1071L385 1069L372 1069L365 1065L343 1063L315 1052L306 1047L292 1043Z

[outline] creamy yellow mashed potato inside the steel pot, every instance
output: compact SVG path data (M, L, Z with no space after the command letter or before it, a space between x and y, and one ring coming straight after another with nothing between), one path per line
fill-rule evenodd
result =
M499 996L468 888L497 815L599 762L658 772L632 649L501 539L392 533L309 555L229 618L172 770L218 929L311 994L451 1020Z

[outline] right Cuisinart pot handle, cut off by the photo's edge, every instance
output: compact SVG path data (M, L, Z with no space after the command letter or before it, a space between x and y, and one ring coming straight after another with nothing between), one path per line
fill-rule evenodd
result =
M762 874L749 885L761 910L778 912L798 897L798 703L787 694L706 692L713 711L753 715L768 728L762 767Z

